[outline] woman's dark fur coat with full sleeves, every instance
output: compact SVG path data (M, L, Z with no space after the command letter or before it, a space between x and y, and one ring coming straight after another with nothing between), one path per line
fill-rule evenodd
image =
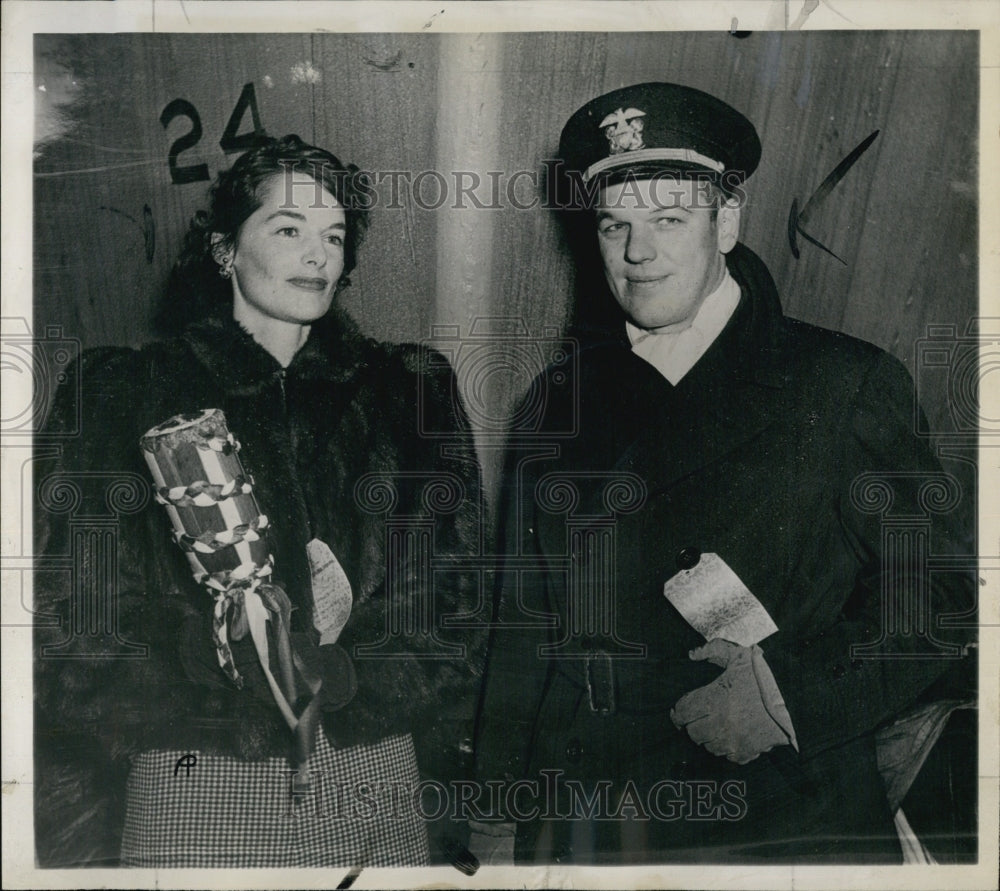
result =
M137 752L289 753L291 734L249 637L234 644L246 678L239 690L215 661L212 598L148 497L140 437L202 408L222 409L242 444L271 520L274 579L292 601L292 631L315 636L307 541L325 542L351 582L339 644L357 689L324 713L332 744L412 732L425 774L447 780L464 769L481 646L476 632L441 619L475 612L477 589L456 570L435 573L426 590L416 557L392 563L391 596L386 586L387 524L430 528L435 558L470 553L479 541L479 469L450 368L428 350L364 338L333 313L283 370L231 318L209 318L139 351L86 353L79 381L63 386L38 438L41 865L114 862L128 759ZM385 486L394 498L380 502ZM95 556L95 534L116 547ZM387 637L391 598L432 604L431 633L402 643ZM366 645L376 645L367 657L357 649ZM384 658L390 651L394 658ZM349 697L343 672L335 675L328 686Z

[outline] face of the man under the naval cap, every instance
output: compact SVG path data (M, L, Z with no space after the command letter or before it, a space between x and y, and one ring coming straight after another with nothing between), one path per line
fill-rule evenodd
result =
M739 208L712 212L693 180L626 180L597 207L604 274L629 320L648 330L682 330L722 281L739 234Z

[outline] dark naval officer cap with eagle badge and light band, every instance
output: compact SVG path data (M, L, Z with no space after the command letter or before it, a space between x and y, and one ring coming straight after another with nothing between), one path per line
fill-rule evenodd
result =
M645 83L579 109L563 128L559 155L566 172L586 183L676 176L708 179L731 192L756 170L760 139L750 121L715 96Z

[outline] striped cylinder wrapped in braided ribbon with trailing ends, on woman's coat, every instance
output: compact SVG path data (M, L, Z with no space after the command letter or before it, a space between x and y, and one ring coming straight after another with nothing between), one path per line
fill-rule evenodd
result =
M218 409L176 415L140 440L167 511L174 540L184 551L195 580L215 597L212 637L219 665L238 687L229 637L250 635L264 677L285 722L294 732L299 759L298 787L308 784L308 758L318 726L322 679L295 652L290 638L291 602L269 580L268 519L253 493L253 480L240 462L239 442ZM227 628L228 621L228 628ZM271 670L267 623L274 629L277 675ZM296 670L308 702L296 715Z

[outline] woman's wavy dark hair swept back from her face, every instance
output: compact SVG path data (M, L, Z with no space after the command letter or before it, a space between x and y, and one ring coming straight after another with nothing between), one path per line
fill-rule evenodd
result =
M311 176L344 207L344 270L337 288L351 283L348 275L357 263L371 198L363 174L353 164L341 163L330 152L308 145L298 136L265 137L219 174L209 191L208 210L194 215L155 319L159 330L177 333L232 304L232 284L219 275L212 237L221 235L223 247L235 247L240 227L261 206L263 184L275 175L295 176L296 184Z

